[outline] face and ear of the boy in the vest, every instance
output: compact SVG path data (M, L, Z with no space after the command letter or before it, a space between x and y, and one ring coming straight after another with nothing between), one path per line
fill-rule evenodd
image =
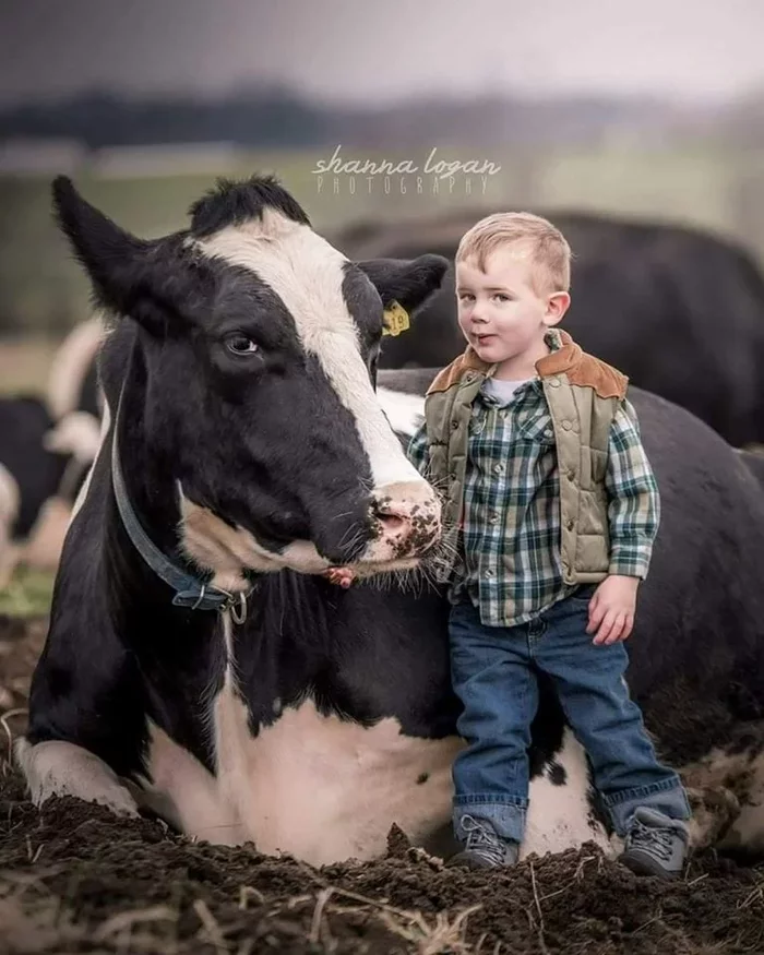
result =
M544 335L563 317L570 296L542 291L534 277L530 252L521 242L492 252L485 272L475 259L456 264L458 323L484 361L500 363L546 348Z

